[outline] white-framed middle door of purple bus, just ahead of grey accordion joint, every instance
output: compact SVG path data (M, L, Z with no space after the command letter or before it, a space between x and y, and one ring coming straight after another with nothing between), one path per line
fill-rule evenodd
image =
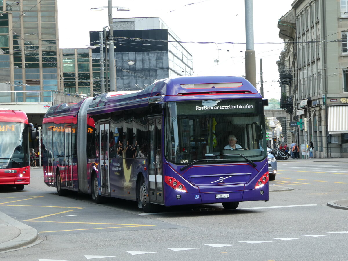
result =
M109 124L100 124L100 183L101 193L110 194Z

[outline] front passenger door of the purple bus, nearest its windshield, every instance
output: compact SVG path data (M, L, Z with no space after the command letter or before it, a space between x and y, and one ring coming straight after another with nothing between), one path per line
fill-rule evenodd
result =
M150 202L164 204L162 173L162 116L149 118Z

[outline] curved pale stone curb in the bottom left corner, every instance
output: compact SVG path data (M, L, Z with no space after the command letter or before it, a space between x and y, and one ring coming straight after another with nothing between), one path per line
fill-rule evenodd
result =
M38 239L38 231L0 212L0 219L21 230L18 237L0 244L0 252L25 247Z

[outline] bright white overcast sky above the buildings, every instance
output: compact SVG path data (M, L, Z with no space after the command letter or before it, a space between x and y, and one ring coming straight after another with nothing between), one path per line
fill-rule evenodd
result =
M277 23L293 1L253 0L256 88L260 91L262 58L268 99L280 98L276 62L284 42ZM245 76L244 4L243 0L113 0L112 6L129 11L113 9L112 17L160 17L180 41L190 42L182 45L192 55L193 75ZM87 48L89 31L102 31L109 24L107 6L108 0L58 0L59 48ZM106 8L90 10L100 7Z

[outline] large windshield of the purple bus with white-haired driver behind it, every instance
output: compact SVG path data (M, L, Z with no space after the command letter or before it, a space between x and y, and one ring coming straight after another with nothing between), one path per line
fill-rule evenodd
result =
M166 106L165 156L174 164L260 161L267 156L264 133L260 99L181 101Z

